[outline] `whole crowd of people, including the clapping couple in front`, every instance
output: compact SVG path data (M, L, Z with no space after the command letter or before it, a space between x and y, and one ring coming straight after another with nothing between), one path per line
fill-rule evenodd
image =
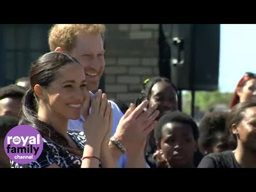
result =
M98 89L105 30L54 25L51 52L31 65L29 77L0 89L0 167L256 167L255 74L238 82L230 111L207 113L199 124L178 110L168 78L145 79L127 106ZM24 124L43 137L42 154L29 164L4 151L7 132Z

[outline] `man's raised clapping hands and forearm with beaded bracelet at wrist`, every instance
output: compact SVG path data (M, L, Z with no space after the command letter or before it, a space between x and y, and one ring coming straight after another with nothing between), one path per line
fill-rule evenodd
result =
M112 138L121 143L127 151L126 167L148 167L144 149L147 135L156 126L155 119L159 111L156 110L157 106L149 107L147 111L144 111L147 106L148 101L143 101L137 108L135 105L131 105L121 118ZM109 149L115 160L118 161L122 155L122 150L113 141L110 141Z

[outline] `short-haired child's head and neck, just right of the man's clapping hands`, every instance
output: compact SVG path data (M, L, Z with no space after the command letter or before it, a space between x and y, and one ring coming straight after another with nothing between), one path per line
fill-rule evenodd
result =
M164 167L165 160L166 168L196 167L198 135L197 124L189 115L180 111L166 113L155 128L157 162Z

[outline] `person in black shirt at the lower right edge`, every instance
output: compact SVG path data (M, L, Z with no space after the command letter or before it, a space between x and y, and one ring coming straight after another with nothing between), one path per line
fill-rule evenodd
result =
M237 148L205 156L198 168L256 167L256 101L241 102L232 108L227 126L237 140Z

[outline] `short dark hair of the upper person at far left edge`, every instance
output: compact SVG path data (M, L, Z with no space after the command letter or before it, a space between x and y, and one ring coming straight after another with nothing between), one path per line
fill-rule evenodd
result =
M22 98L26 89L19 85L11 84L0 89L0 100L4 98Z

